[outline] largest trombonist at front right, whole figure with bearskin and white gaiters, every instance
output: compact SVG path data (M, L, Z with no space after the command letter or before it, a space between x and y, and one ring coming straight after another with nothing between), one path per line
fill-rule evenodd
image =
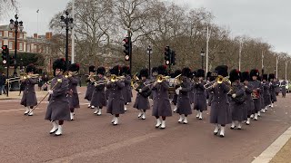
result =
M226 78L227 66L221 65L216 67L216 72L219 77ZM211 111L210 111L210 123L216 125L214 134L217 135L220 130L220 137L225 137L226 124L231 123L231 110L229 108L229 101L227 98L227 93L230 90L230 84L226 80L222 82L216 79L216 82L209 88L209 91L213 91L213 100L211 101Z

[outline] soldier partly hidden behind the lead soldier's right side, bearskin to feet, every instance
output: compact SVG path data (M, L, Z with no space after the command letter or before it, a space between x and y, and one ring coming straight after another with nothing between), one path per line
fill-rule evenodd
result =
M69 92L68 92L68 100L69 107L71 110L71 120L74 120L75 116L75 108L80 108L79 96L76 87L79 83L79 77L74 73L79 72L80 65L78 63L73 63L68 68L68 75L66 76L69 82Z

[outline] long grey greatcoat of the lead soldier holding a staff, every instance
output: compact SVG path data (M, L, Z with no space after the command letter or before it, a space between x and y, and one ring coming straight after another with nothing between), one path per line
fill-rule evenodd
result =
M45 120L71 120L69 101L66 97L69 82L63 75L56 76L51 82L53 94L48 97Z

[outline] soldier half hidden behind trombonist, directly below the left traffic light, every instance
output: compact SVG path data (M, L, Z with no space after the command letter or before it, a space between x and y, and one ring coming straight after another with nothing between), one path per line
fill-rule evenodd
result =
M125 111L127 110L126 105L128 105L129 102L131 102L131 77L129 75L129 67L123 66L120 70L120 76L125 76L125 87L122 90L122 96L124 97L125 101Z

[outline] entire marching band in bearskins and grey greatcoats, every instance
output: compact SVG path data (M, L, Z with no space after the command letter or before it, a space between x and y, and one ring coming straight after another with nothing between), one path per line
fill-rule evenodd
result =
M49 133L55 136L63 134L64 120L75 120L75 109L80 108L77 92L79 68L79 64L73 63L66 70L64 59L57 59L53 64L55 78L48 91L45 120L51 121L53 129ZM228 73L226 65L219 65L214 72L206 73L202 69L191 72L185 67L167 76L166 66L160 65L151 72L142 69L131 78L127 66L116 65L109 72L105 71L105 67L95 69L94 65L89 66L85 92L88 108L101 116L102 109L106 107L106 113L113 116L111 122L116 126L120 123L120 114L125 113L126 105L132 101L134 90L136 97L133 108L138 110L137 118L146 120L146 111L151 109L149 99L152 99L155 127L166 129L166 117L172 116L171 104L181 124L191 122L189 115L192 110L196 110L197 120L203 120L203 111L207 110L208 105L211 108L210 123L215 125L213 133L224 138L227 124L231 124L230 129L242 129L243 124L250 125L251 119L258 120L260 113L265 113L268 107L273 108L277 101L279 86L275 75L263 73L261 78L256 69L250 72L234 69ZM21 79L25 84L21 105L26 107L25 115L32 116L33 108L37 105L35 66L29 64L26 73ZM282 89L282 93L285 97L286 91Z

